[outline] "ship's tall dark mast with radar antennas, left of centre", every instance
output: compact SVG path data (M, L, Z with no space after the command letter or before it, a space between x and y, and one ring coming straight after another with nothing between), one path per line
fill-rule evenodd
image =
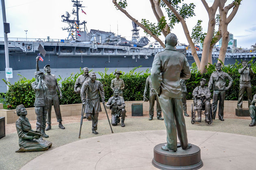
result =
M74 17L74 19L69 19L70 14L67 11L66 11L66 15L61 15L61 18L63 19L62 22L65 22L69 25L68 27L62 28L62 30L67 30L67 32L69 33L67 36L67 40L69 40L69 36L71 36L71 39L73 40L78 40L80 39L78 36L78 32L80 32L81 30L80 25L84 25L84 29L85 29L86 28L85 23L87 23L86 21L83 21L82 23L80 23L78 12L81 7L85 7L85 6L82 6L82 4L80 4L80 2L82 1L78 1L78 0L71 0L71 1L74 2L73 6L76 7L76 10L74 8L72 10L72 15L75 15L76 18ZM73 33L75 33L75 35Z

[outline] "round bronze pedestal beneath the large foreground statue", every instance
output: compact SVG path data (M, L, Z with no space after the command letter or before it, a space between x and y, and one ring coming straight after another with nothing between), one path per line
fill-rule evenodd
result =
M163 170L197 170L203 166L200 148L192 144L192 147L183 150L178 147L176 152L161 149L166 143L154 147L152 164Z

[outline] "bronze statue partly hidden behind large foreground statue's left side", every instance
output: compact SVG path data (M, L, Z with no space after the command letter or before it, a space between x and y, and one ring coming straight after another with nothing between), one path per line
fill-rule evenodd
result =
M150 91L150 96L149 96L149 101L150 101L150 108L149 108L149 116L150 118L148 120L152 120L154 117L154 105L155 105L155 100L156 100L156 116L158 120L163 120L162 118L162 110L158 101L158 98L156 97L156 91L152 88L152 81L150 79L150 75L146 79L146 84L145 84L145 89L144 89L144 94L143 94L143 100L148 101L146 98L147 91Z

